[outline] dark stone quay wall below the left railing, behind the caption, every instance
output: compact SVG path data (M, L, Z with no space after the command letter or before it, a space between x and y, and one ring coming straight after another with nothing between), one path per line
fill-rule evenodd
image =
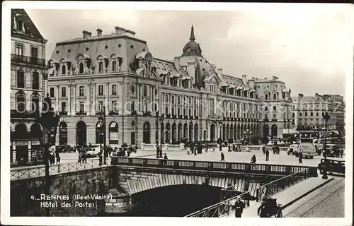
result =
M100 167L76 172L50 176L50 195L68 196L69 200L52 200L55 204L50 208L53 216L95 216L103 212L104 200L92 199L79 201L81 205L91 203L91 207L75 207L74 194L86 196L107 194L111 184L113 167ZM45 177L19 179L11 181L11 216L42 216L45 215L45 200L35 200L44 194ZM69 203L71 207L62 207L62 203ZM69 205L67 204L67 205Z

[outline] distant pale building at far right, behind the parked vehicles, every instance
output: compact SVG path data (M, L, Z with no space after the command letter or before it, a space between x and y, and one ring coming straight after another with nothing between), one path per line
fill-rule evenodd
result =
M300 133L319 133L324 135L325 112L331 117L328 122L330 131L338 131L344 136L345 102L340 95L319 95L292 97L292 125Z

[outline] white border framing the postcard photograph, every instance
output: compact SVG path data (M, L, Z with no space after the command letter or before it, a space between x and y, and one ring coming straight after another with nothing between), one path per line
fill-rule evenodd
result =
M343 7L343 4L306 4L310 7ZM10 143L8 128L10 126L10 96L8 88L10 87L10 53L11 53L11 8L25 9L131 9L131 10L195 10L195 11L278 11L285 8L304 7L303 4L248 4L248 3L178 3L178 2L84 2L84 1L4 1L2 13L2 61L1 61L1 223L5 225L351 225L352 219L352 199L353 199L353 61L354 47L348 48L348 53L352 56L348 59L348 70L346 71L346 218L45 218L45 217L10 217L10 164L8 162L8 144ZM354 13L351 11L354 7L347 4L348 18ZM353 7L353 8L352 8ZM300 16L300 15L299 15ZM354 20L352 20L354 21ZM353 29L353 28L348 28ZM350 30L348 40L353 46L353 30ZM335 75L333 75L335 76ZM325 93L325 92L324 92ZM348 164L349 163L349 164ZM142 221L144 220L144 222Z

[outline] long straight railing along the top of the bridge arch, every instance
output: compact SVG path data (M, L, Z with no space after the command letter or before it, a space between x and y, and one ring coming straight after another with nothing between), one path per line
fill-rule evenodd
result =
M310 177L318 177L317 167L299 165L270 165L244 162L203 162L192 160L162 160L152 158L112 156L110 165L118 167L156 167L159 169L193 169L215 172L240 172L253 174L290 175L295 172L309 170Z

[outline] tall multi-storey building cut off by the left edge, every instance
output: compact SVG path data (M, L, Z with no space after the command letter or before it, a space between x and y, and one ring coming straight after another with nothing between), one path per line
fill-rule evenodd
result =
M42 129L35 123L45 75L45 40L23 9L11 10L11 163L31 161Z

